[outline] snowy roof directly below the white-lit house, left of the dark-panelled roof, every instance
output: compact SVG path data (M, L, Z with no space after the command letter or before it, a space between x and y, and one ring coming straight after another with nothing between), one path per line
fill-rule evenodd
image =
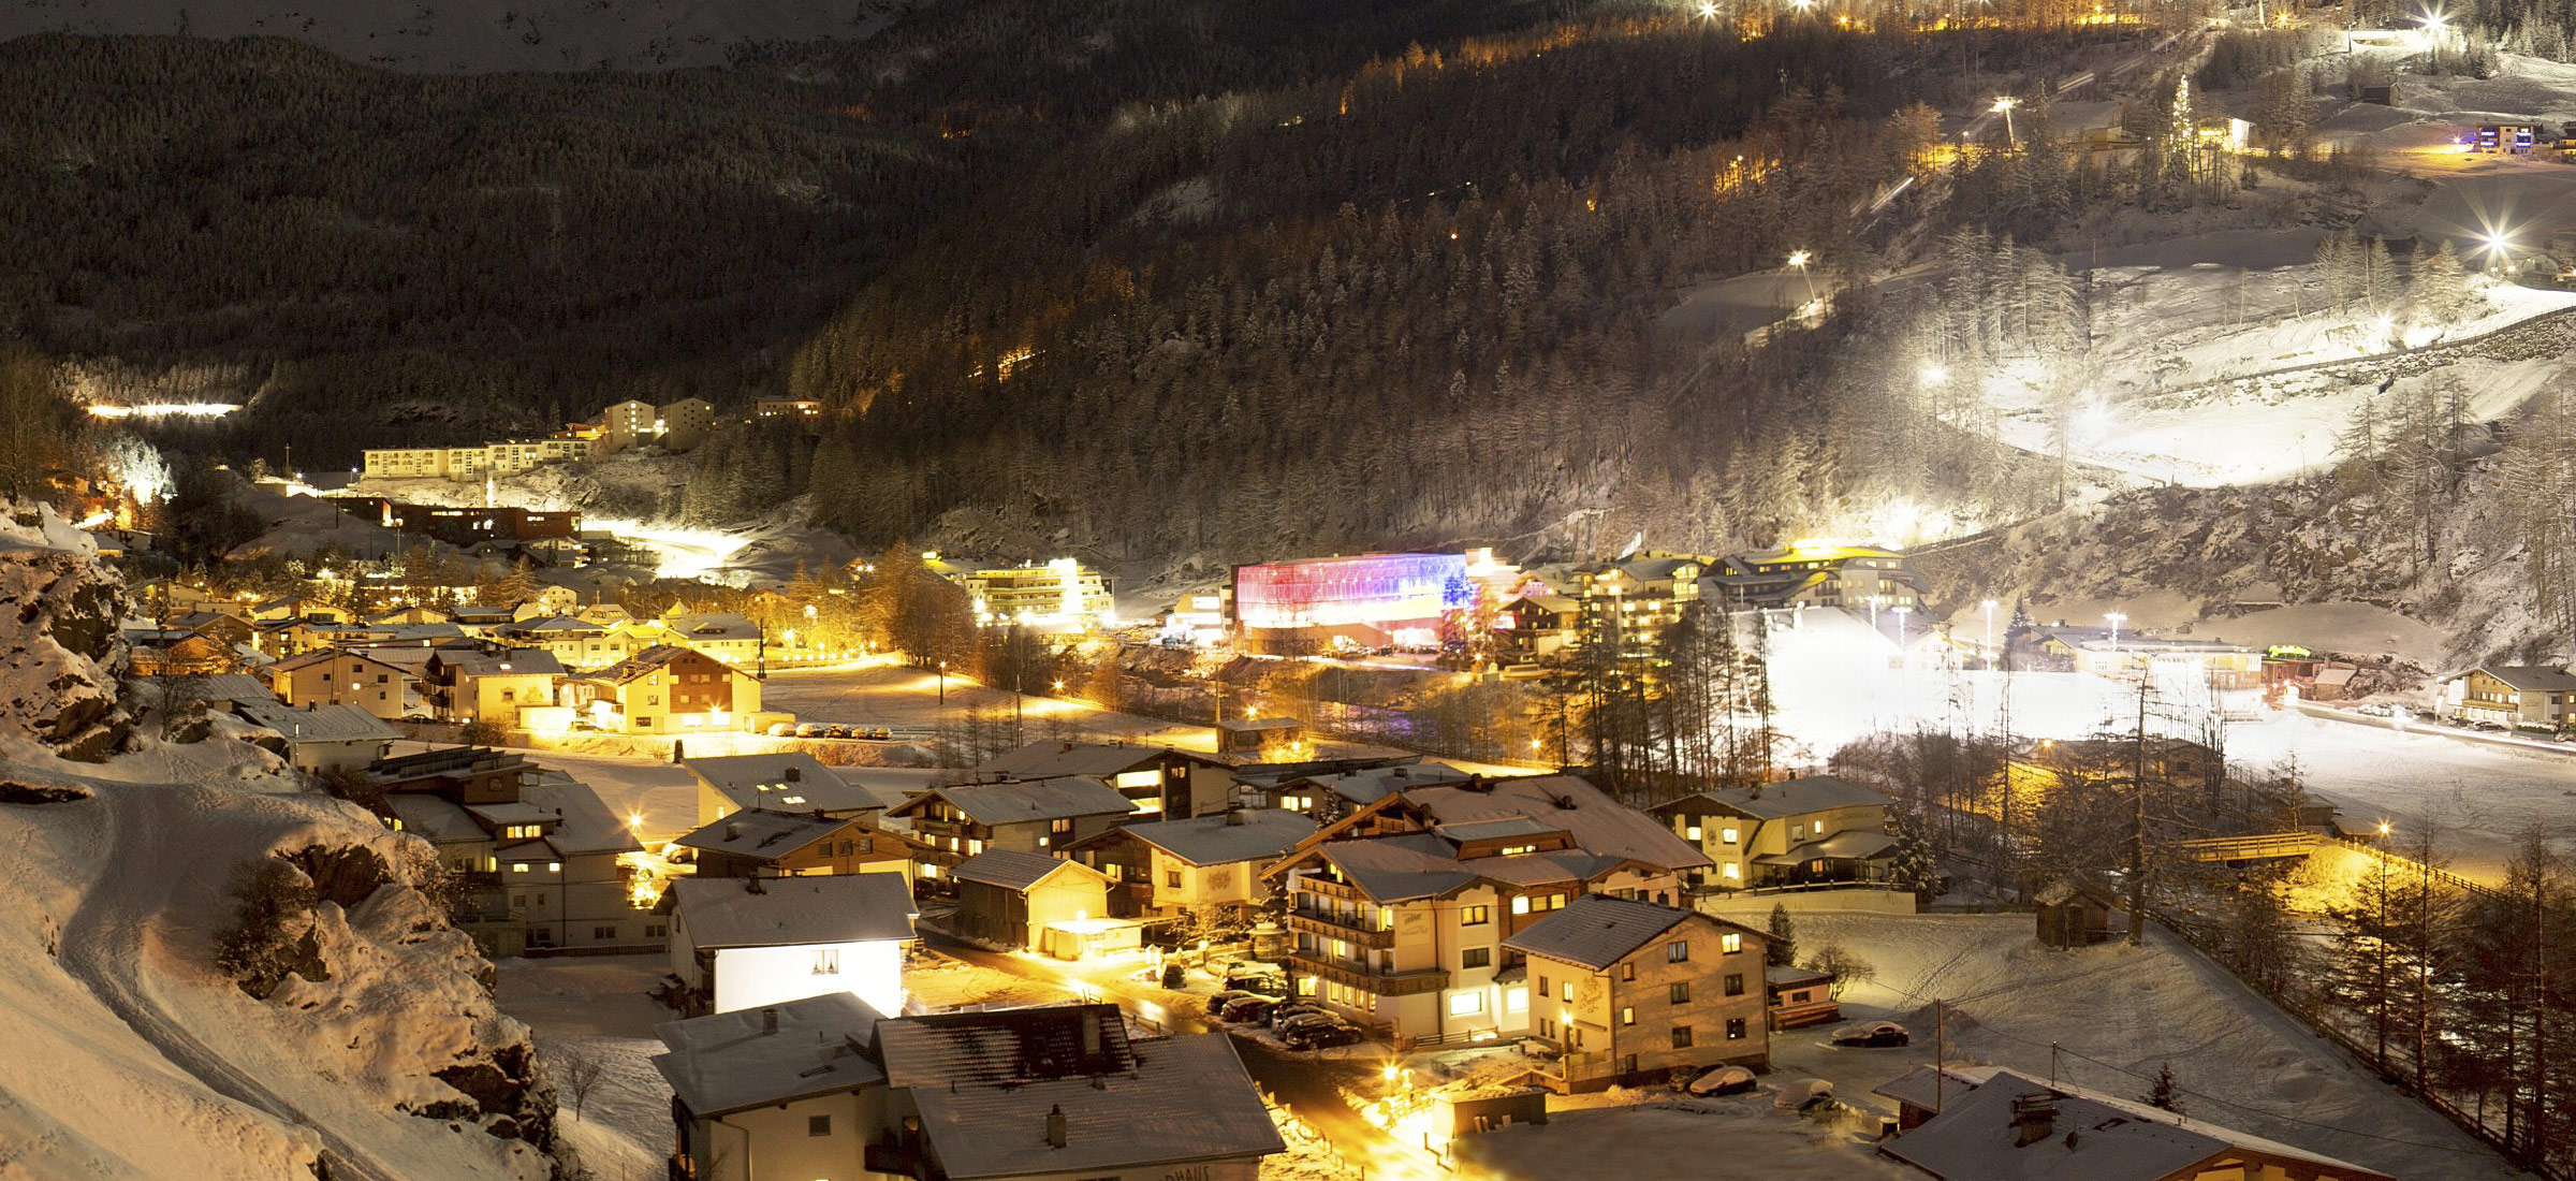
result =
M652 1065L690 1114L714 1119L884 1083L866 1052L878 1021L850 993L670 1021L654 1029L670 1052Z

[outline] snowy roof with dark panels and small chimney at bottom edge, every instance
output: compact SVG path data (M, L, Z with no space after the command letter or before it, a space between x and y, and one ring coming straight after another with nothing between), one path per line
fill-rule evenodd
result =
M1283 1150L1226 1034L1131 1044L1115 1006L909 1016L876 1026L927 1153L958 1181L1090 1176ZM1064 1147L1048 1142L1064 1117Z

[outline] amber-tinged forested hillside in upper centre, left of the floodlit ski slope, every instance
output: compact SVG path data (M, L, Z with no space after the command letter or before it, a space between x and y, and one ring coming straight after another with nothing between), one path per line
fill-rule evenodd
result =
M1121 119L796 358L796 392L858 410L819 508L878 539L976 505L1133 557L1587 508L1669 544L1832 523L1911 425L1860 428L1880 384L1826 379L1883 317L1747 356L1659 315L1790 250L1865 268L1947 52L1605 15Z

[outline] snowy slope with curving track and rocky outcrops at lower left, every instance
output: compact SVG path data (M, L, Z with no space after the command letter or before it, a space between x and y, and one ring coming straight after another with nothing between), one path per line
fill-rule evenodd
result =
M113 585L88 552L26 549L26 529L10 542L13 578L41 554L57 583ZM8 619L54 634L54 603L36 603ZM21 642L8 678L88 701L116 665ZM46 740L59 714L0 699L0 1176L577 1176L528 1029L420 890L428 846L314 792L237 727L198 743L131 727L75 763ZM281 923L299 975L255 998L216 946L234 874L265 859L314 903Z

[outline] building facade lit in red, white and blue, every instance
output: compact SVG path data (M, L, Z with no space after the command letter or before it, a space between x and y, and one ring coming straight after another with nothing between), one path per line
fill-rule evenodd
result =
M1427 647L1476 603L1466 554L1352 554L1234 567L1226 624L1247 652L1350 639Z

